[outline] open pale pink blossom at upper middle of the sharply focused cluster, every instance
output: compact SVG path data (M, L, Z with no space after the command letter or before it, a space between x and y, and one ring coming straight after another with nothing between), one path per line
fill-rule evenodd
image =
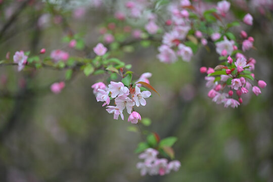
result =
M110 83L108 87L112 98L129 95L129 89L122 82L111 81Z

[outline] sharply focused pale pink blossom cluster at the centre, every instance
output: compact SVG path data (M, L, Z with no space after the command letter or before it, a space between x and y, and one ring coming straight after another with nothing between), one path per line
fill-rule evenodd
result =
M140 77L140 81L149 83L148 78L151 73L144 73ZM136 83L139 81L136 81ZM130 84L129 87L125 86L122 82L111 81L108 86L103 82L98 82L92 85L93 93L96 95L98 102L104 102L103 106L106 106L108 113L114 114L114 119L118 119L119 115L124 120L123 110L126 109L129 114L128 122L133 124L138 123L141 120L141 115L134 111L134 106L145 106L145 98L151 96L151 92L148 90L141 91L141 84ZM110 101L114 99L116 106L109 106Z

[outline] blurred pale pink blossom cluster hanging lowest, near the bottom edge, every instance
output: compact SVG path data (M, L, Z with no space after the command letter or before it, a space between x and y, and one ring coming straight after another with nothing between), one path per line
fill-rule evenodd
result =
M177 160L168 162L165 158L157 158L159 152L155 149L149 148L139 155L140 159L144 162L139 162L136 167L141 170L141 175L165 175L170 173L171 170L177 171L181 164Z

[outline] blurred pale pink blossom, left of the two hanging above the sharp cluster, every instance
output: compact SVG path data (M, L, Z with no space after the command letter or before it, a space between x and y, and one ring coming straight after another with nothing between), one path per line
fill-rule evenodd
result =
M168 47L168 45L161 45L159 48L157 58L163 63L174 63L177 61L175 52Z

